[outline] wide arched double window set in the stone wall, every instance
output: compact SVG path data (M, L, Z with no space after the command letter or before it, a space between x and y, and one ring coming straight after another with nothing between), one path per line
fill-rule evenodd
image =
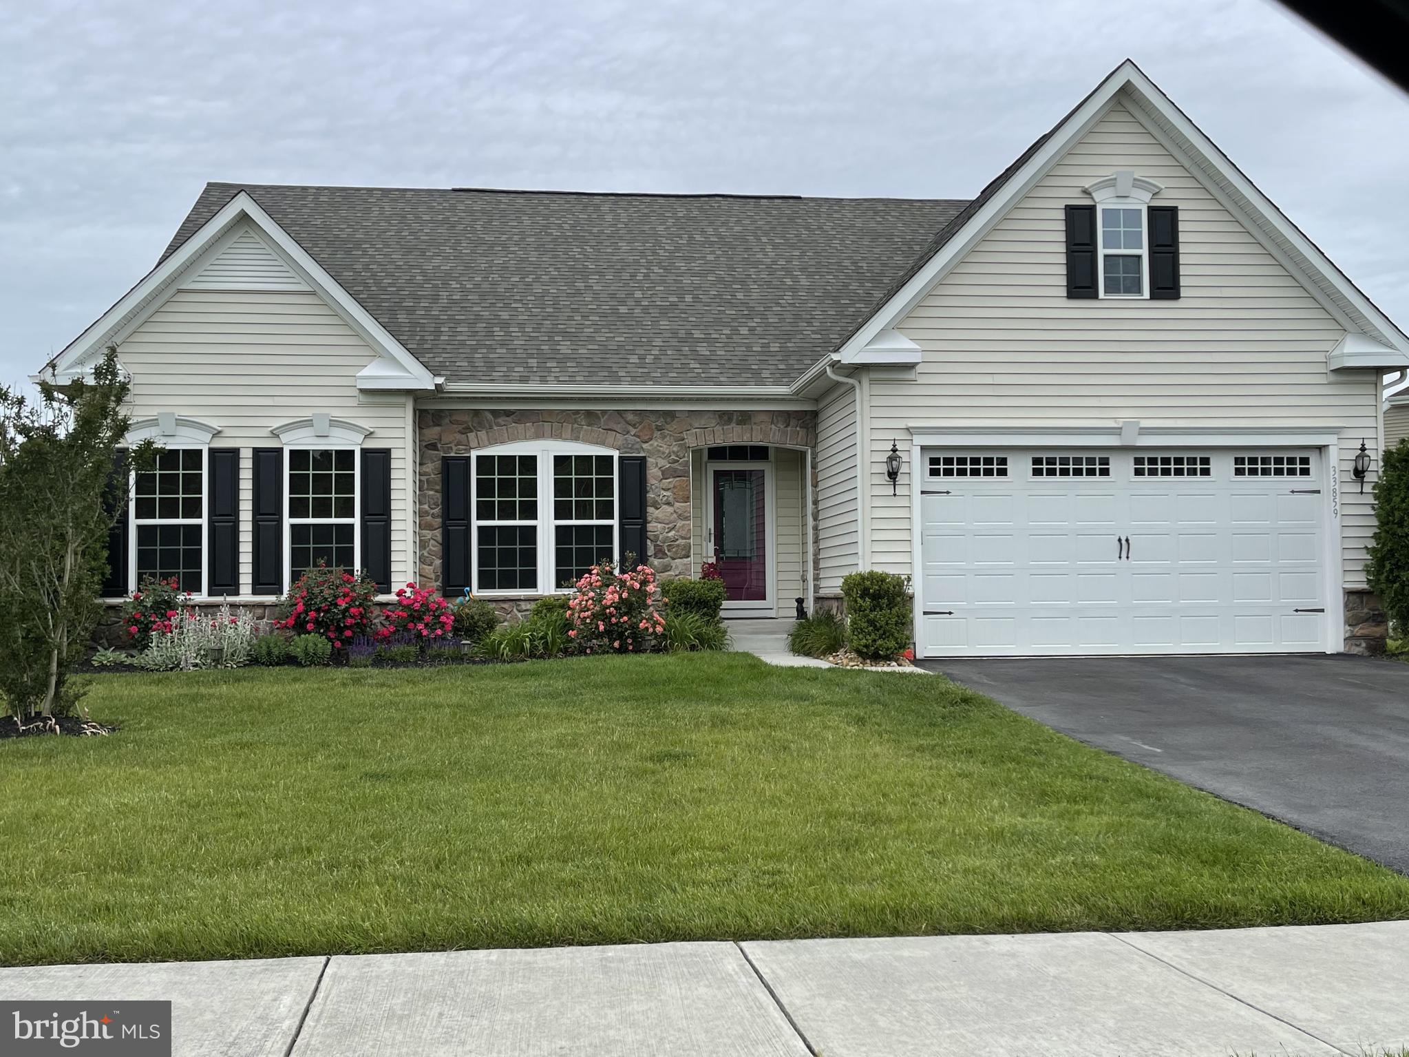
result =
M568 441L475 452L476 592L547 595L617 557L617 454Z

